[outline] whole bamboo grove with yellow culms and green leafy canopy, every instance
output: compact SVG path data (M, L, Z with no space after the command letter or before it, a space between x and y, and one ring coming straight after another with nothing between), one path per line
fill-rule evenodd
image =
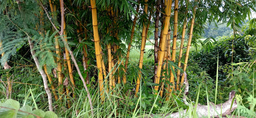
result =
M243 15L250 13L255 5L250 0L240 2L235 0ZM134 88L133 95L138 97L145 77L145 44L153 39L153 93L169 100L169 96L182 90L189 50L199 39L205 23L230 19L223 17L225 11L220 8L228 6L222 3L222 0L0 0L0 62L4 69L11 68L11 57L29 47L30 57L44 80L49 110L53 110L51 94L54 100L63 100L64 96L74 98L81 81L86 90L97 86L102 101L120 85ZM130 79L127 71L130 50L136 47L140 48L140 58L138 65L132 66L138 76ZM10 80L7 81L11 91ZM87 95L90 99L88 90Z

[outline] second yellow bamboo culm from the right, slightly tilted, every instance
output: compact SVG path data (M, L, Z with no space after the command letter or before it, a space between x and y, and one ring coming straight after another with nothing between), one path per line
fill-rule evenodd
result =
M184 39L185 39L185 34L186 34L186 27L187 27L187 18L184 19L183 23L183 28L182 28L182 38L180 42L180 48L179 48L179 62L178 62L178 67L181 68L181 58L182 58L182 49L184 45ZM176 90L179 90L179 78L180 78L180 70L177 70L177 85L176 85Z

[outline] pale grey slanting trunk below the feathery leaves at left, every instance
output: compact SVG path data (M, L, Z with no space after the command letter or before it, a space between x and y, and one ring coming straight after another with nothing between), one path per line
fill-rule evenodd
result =
M33 50L34 48L34 44L32 43L32 40L30 38L28 38L28 43L29 43L29 46L30 46L30 50L31 50L31 55L36 63L36 67L39 71L39 73L41 74L42 78L43 78L43 81L44 81L44 89L46 91L46 94L48 96L48 103L49 103L49 110L50 111L53 111L53 106L52 106L52 99L51 99L51 91L50 89L48 88L48 83L47 83L47 78L46 78L46 74L44 73L44 70L42 70L40 68L40 65L39 65L39 62L38 62L38 59L36 57L36 52L35 50Z

